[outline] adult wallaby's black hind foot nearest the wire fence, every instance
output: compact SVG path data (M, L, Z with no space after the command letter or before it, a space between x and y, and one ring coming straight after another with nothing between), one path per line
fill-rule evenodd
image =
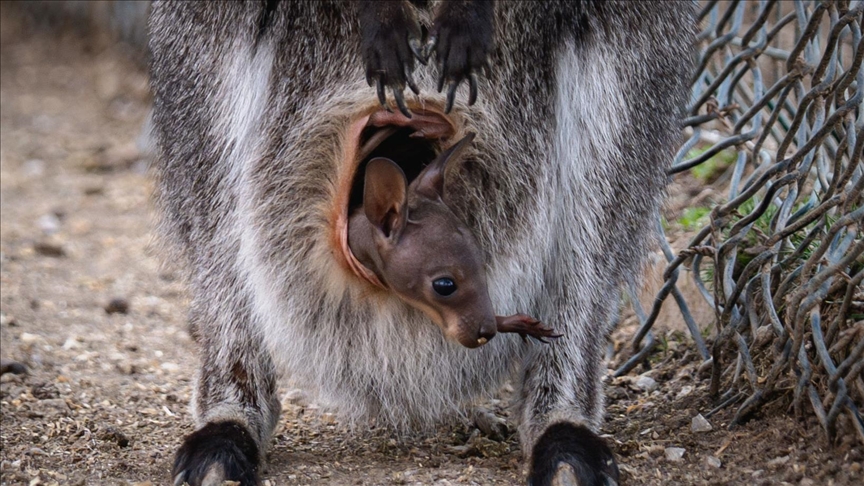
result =
M549 426L532 455L531 486L618 484L618 465L612 451L585 426L567 422Z

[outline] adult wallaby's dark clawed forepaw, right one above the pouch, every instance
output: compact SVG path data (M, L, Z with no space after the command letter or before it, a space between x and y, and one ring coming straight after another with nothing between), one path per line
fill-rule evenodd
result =
M494 49L493 5L491 1L444 2L435 18L424 54L435 53L438 61L438 92L447 84L450 113L456 88L468 80L468 104L477 100L477 73L488 68Z

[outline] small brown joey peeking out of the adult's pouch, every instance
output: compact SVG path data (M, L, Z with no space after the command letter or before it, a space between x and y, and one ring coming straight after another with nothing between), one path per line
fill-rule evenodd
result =
M494 314L477 240L444 202L448 168L473 139L468 134L441 152L410 186L395 162L370 160L363 207L348 222L351 255L373 285L426 313L466 348L486 344L496 332L548 343L544 338L561 336L536 319Z

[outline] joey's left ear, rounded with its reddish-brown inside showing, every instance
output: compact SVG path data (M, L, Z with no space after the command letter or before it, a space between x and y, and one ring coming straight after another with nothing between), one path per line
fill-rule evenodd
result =
M408 221L407 186L405 173L392 160L376 157L366 164L363 210L386 238L398 235Z

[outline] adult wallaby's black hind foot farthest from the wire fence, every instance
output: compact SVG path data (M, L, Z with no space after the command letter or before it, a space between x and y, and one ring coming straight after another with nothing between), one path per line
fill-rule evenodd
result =
M174 459L174 485L258 484L258 446L237 422L205 425L186 437Z

